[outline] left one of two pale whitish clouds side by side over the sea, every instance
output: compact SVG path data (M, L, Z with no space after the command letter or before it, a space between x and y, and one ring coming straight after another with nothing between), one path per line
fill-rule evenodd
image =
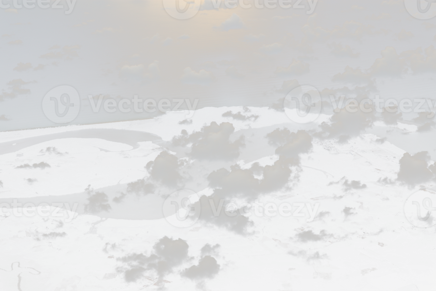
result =
M131 65L129 62L120 63L116 69L118 78L124 82L140 82L140 86L150 85L165 79L159 68L159 61L153 61L151 64Z

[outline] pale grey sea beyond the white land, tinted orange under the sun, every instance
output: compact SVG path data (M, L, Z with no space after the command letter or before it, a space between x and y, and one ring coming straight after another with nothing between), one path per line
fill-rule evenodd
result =
M351 5L358 4L367 7L363 12L344 12ZM89 14L84 14L85 12ZM333 83L333 75L343 72L349 65L362 70L371 67L376 58L380 58L380 51L386 46L393 46L397 52L427 48L434 45L435 31L425 31L422 22L417 19L407 21L407 13L399 13L399 7L382 7L380 1L345 1L324 0L315 9L318 14L317 25L333 29L335 25L342 25L344 21L360 21L371 24L375 30L390 29L387 36L365 37L362 44L348 39L338 40L342 45L350 45L354 52L361 54L357 59L337 59L329 55L330 49L326 45L313 45L314 56L319 60L310 62L310 73L296 77L301 85L311 85L319 89L337 88L343 85ZM381 12L390 13L392 20L366 21L364 17ZM183 69L191 67L198 71L198 66L205 61L218 62L221 60L245 60L252 52L257 51L262 44L279 41L283 31L294 34L297 40L303 37L300 28L307 21L308 15L300 9L235 9L204 10L189 20L177 20L170 17L163 9L161 1L152 0L98 0L78 1L73 12L64 14L64 10L57 9L20 9L19 14L3 13L0 11L0 35L11 34L11 38L0 38L2 62L0 65L0 90L8 88L6 83L13 79L23 79L25 82L37 81L23 88L31 89L31 94L21 95L16 99L5 100L0 103L0 115L5 114L12 120L0 121L0 130L14 130L32 127L54 126L48 120L41 108L44 95L52 88L61 85L73 86L82 99L81 110L73 124L108 122L128 120L132 118L153 117L154 113L93 113L87 96L110 94L112 97L123 96L132 99L139 98L155 100L189 98L199 99L198 107L207 106L268 106L283 97L274 90L280 88L287 79L271 78L276 67L287 67L293 58L301 54L285 47L283 52L271 55L271 62L262 62L258 66L238 64L238 72L244 74L244 80L232 80L225 75L227 66L218 66L212 72L217 82L210 86L181 84L178 77ZM233 13L242 17L247 29L219 31L214 29ZM272 21L275 15L303 14L292 21ZM95 19L95 22L83 27L71 27L83 21ZM266 19L262 21L261 19ZM394 20L401 20L400 23ZM28 25L10 25L14 23L28 23ZM428 20L434 23L434 19ZM103 27L123 27L123 34L97 37L91 33ZM415 38L411 42L395 41L393 34L401 31L412 31ZM173 43L162 46L160 43L149 44L141 41L159 33L163 40L173 38ZM245 34L266 34L262 42L244 42ZM177 37L188 34L189 39L181 40ZM8 41L20 39L23 45L7 45ZM329 41L330 43L331 41ZM81 45L79 58L72 61L59 60L58 66L48 65L43 71L16 72L13 68L19 62L37 64L51 64L39 58L49 52L53 45ZM160 70L166 77L164 81L140 87L139 82L125 83L118 78L116 66L121 59L143 51L141 59L131 61L131 64L149 64L154 60L160 61ZM107 77L102 76L101 70L111 70ZM260 74L250 74L256 69ZM436 86L433 75L408 75L402 80L377 80L381 98L434 98ZM293 79L293 78L292 78ZM118 86L111 86L115 82ZM373 96L372 96L373 97ZM132 110L133 111L133 110ZM405 113L405 119L416 117L416 113Z

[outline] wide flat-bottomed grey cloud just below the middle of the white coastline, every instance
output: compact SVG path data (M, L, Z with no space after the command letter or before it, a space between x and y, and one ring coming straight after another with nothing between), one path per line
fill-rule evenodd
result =
M181 135L173 137L172 143L176 147L187 147L191 144L191 152L187 153L192 159L199 161L234 161L239 157L240 150L245 147L245 137L241 135L234 142L230 135L235 131L232 123L210 125L188 134L186 130Z

